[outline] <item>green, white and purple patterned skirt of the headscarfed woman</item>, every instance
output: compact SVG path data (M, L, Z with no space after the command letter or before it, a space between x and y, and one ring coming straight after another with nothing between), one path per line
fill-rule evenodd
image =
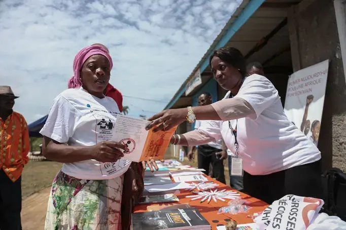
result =
M53 180L46 230L120 230L123 175L84 180L61 171Z

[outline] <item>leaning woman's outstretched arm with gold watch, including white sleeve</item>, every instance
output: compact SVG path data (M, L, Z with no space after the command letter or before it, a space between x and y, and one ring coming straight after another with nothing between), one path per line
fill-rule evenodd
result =
M257 119L271 104L280 100L278 90L263 76L247 78L234 98L224 99L207 106L193 107L198 120L233 120L248 117ZM171 109L149 118L147 129L168 130L186 120L187 109Z

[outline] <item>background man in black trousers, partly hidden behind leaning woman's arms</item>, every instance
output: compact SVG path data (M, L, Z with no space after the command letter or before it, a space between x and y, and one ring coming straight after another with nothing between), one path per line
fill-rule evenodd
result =
M210 105L212 103L212 96L209 93L203 93L198 97L199 106ZM205 122L207 121L196 120L195 129L198 129ZM189 160L194 158L194 151L196 148L198 168L204 169L205 174L209 175L210 164L212 164L213 177L222 183L226 183L223 160L227 159L227 152L222 151L222 140L214 140L213 142L199 145L198 147L192 146L187 154Z

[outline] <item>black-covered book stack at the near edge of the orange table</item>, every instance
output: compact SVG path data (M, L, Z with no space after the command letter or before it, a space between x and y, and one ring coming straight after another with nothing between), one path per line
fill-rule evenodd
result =
M132 230L210 230L210 223L196 208L159 210L132 214Z

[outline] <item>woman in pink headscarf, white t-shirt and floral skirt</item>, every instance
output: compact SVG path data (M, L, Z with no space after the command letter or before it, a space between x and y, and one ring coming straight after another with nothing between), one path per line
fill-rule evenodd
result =
M64 164L53 180L45 229L128 228L121 217L129 213L121 213L121 203L131 162L122 159L122 144L109 141L120 110L104 95L112 67L107 48L83 48L69 88L50 108L41 130L43 155Z

